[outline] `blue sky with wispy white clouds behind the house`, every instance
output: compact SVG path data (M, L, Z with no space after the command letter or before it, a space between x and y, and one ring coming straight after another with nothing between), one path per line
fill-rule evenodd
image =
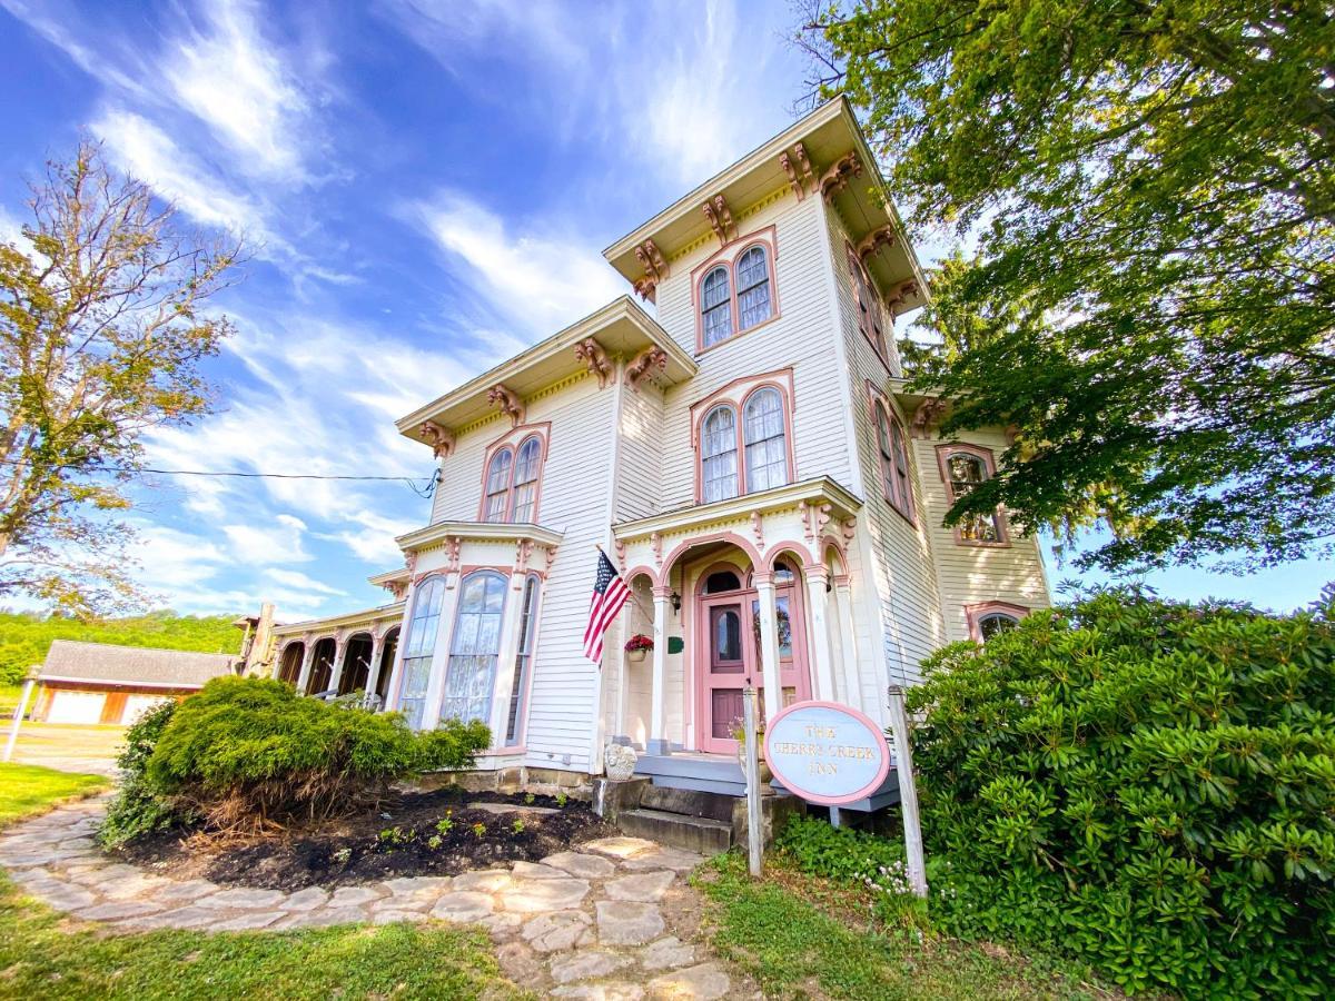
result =
M92 133L254 244L219 300L238 324L210 362L219 411L155 435L152 464L425 479L395 418L627 291L599 250L792 121L790 20L725 0L0 0L0 239L24 178ZM267 597L288 621L383 601L364 578L429 517L399 484L164 478L139 499L162 603ZM1327 579L1151 582L1291 607Z

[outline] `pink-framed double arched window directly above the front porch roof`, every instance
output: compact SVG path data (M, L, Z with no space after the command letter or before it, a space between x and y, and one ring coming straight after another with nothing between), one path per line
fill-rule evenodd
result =
M738 379L690 410L700 503L793 482L792 370Z

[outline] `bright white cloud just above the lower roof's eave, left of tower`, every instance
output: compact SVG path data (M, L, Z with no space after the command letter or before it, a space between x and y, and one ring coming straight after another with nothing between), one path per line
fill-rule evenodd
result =
M573 234L514 232L453 191L403 210L442 250L473 268L491 306L542 336L627 291L626 283Z

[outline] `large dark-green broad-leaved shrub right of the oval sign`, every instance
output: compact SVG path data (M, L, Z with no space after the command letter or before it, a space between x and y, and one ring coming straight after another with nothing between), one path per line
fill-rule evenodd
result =
M932 657L933 913L1128 990L1335 994L1335 629L1109 590Z

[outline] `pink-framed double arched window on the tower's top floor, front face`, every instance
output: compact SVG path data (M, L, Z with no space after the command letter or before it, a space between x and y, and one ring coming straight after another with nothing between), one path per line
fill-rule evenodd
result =
M778 315L774 227L733 240L694 275L698 351L773 319Z

